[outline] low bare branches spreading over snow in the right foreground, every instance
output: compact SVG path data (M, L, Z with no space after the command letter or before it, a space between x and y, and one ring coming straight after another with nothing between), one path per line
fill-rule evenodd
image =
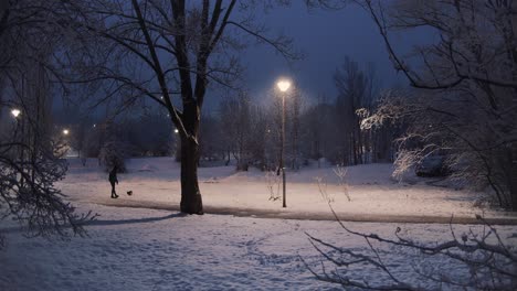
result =
M347 234L365 239L367 247L341 247L308 235L323 260L304 262L318 280L351 290L517 288L515 238L504 238L481 216L477 219L484 225L476 229L456 233L451 225L451 238L432 244L410 237L401 227L393 236L382 237L352 230L336 219Z

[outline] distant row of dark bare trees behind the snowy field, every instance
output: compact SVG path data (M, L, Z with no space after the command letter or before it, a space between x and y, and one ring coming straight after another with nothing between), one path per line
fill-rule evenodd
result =
M238 171L247 171L250 166L262 171L276 169L282 98L285 98L287 168L298 170L310 161L324 160L339 165L392 162L393 140L400 128L391 125L361 128L369 112L379 106L374 72L346 57L336 68L334 80L338 91L334 98L304 95L296 84L285 94L272 89L266 96L254 97L243 90L221 96L220 103L201 117L199 164L234 164ZM156 107L139 111L140 108L108 121L77 118L81 114L73 112L68 115L72 118L63 119L66 122L62 127L72 129L68 144L83 158L98 158L108 150L113 159L175 155L180 161L181 141L178 130L167 123L166 111ZM114 143L117 146L112 151L108 148Z

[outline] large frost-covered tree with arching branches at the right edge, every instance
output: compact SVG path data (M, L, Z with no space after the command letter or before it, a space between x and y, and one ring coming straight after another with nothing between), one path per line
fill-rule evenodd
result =
M363 127L376 120L405 122L400 172L444 153L454 179L488 185L499 206L517 211L516 2L360 2L376 21L394 67L415 88L383 98ZM393 50L388 28L430 29L440 36L413 45L424 66L408 65L416 60Z

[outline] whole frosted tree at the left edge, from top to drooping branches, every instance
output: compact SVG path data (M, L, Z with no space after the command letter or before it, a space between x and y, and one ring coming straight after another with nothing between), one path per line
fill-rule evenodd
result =
M31 236L83 235L89 217L54 187L66 164L53 154L49 65L63 39L61 24L74 17L65 11L61 1L0 3L0 111L19 110L15 125L0 133L0 217L13 217Z

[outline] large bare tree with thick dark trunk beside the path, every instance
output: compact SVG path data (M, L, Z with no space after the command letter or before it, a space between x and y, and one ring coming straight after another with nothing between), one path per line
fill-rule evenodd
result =
M84 6L89 18L82 28L104 40L103 47L94 48L104 57L92 64L83 54L83 62L75 62L81 73L75 80L109 84L105 98L124 91L126 105L143 97L166 108L181 138L181 212L202 214L198 139L208 85L233 87L240 76L233 52L244 43L235 35L267 43L293 60L298 55L289 39L265 36L267 30L254 20L253 11L261 7L254 1L96 0Z

